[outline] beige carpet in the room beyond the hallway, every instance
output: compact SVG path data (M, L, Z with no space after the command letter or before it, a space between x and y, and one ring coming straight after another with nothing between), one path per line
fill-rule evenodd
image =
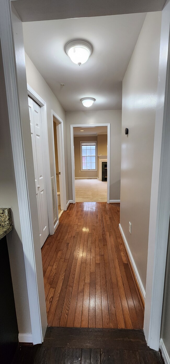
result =
M107 202L107 182L75 179L76 202Z

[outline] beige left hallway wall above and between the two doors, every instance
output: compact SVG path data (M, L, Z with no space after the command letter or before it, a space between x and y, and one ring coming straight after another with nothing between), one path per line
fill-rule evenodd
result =
M54 176L54 161L53 161L53 150L52 150L52 123L51 123L51 110L63 120L63 131L64 131L64 158L65 158L65 173L66 173L66 197L67 202L69 200L68 192L68 159L67 159L67 128L66 128L66 112L56 99L55 95L51 91L51 88L47 85L46 81L37 71L36 67L32 63L31 59L25 54L25 65L27 83L37 92L39 96L46 102L47 107L47 126L48 126L48 145L50 153L50 171L51 177Z

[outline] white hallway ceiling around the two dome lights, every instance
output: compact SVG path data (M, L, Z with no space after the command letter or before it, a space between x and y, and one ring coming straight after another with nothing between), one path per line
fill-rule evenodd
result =
M122 108L122 80L146 13L23 23L25 52L66 111ZM64 51L72 39L90 41L93 52L78 66ZM61 87L60 83L65 86Z

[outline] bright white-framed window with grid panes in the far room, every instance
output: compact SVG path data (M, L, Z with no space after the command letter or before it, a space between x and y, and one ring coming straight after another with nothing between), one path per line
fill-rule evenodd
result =
M97 142L80 142L81 171L97 170Z

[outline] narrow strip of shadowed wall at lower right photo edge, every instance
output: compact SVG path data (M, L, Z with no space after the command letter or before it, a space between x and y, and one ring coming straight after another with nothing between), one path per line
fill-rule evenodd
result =
M170 226L167 246L165 284L163 293L161 338L170 357Z

